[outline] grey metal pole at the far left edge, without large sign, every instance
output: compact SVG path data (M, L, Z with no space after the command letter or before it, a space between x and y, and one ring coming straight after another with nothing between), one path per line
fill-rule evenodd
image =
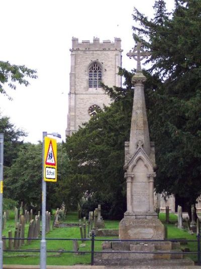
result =
M3 222L3 182L4 182L4 134L0 134L0 269L3 268L3 240L2 240L2 222Z

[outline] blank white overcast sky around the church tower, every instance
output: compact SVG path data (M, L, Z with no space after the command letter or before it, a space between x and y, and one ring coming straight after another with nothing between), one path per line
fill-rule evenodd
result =
M173 8L173 0L167 0ZM122 39L123 67L135 62L126 53L134 46L133 8L152 16L154 0L2 0L0 60L37 69L28 87L17 84L13 97L0 95L0 111L17 128L28 132L25 141L37 143L42 132L58 132L65 141L72 37L100 42Z

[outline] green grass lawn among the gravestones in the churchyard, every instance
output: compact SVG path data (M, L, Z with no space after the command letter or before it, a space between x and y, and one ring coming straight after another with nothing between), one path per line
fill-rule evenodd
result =
M159 215L162 222L165 221L165 214L160 213ZM190 235L185 230L180 230L175 226L175 222L177 221L177 216L174 214L170 214L170 224L165 224L168 229L168 239L172 238L186 238L187 240L194 240L196 239L195 235ZM67 220L65 223L78 223L77 213L72 212L67 215ZM110 221L105 220L106 228L107 229L118 229L119 228L119 221ZM27 237L29 225L26 225L25 229L25 237ZM3 235L8 237L8 231L13 230L13 236L15 231L15 220L14 215L11 214L10 220L7 221L6 228L3 231ZM54 228L52 229L47 235L47 250L73 250L73 244L71 240L48 240L48 238L76 238L80 239L80 231L79 227L63 227L63 228ZM97 239L114 239L115 237L98 237ZM117 238L117 237L116 237ZM79 251L90 251L91 249L91 242L81 240L78 241L78 244L84 243L85 246L80 247ZM95 241L95 250L99 251L102 249L101 247L102 241ZM188 242L187 245L182 245L182 248L190 248L190 251L197 250L197 243L196 242ZM33 240L31 244L24 245L21 247L23 249L40 249L40 240ZM30 256L32 255L32 256ZM191 257L194 261L197 260L197 256L186 254ZM75 253L61 253L57 254L54 253L47 253L47 264L48 265L73 265L73 264L89 264L90 263L90 253L86 254L79 254L76 255ZM4 264L33 264L37 265L40 264L40 253L28 253L28 252L4 252Z

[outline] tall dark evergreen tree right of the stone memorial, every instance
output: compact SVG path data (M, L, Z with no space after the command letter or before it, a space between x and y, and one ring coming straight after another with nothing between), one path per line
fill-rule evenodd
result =
M168 16L164 1L156 1L154 8L152 20L135 10L140 26L133 29L134 38L152 52L149 71L162 82L152 93L148 113L156 144L155 187L191 205L201 193L201 1L177 0Z

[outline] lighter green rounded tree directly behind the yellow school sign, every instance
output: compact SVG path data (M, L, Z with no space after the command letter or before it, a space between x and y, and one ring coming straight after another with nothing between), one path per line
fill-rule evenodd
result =
M62 149L62 144L57 145L57 176L58 182L65 174L66 153ZM18 156L14 160L5 176L4 197L10 198L23 205L25 208L40 210L42 195L42 143L21 145ZM63 200L60 193L56 195L57 183L47 182L47 210L60 207Z

